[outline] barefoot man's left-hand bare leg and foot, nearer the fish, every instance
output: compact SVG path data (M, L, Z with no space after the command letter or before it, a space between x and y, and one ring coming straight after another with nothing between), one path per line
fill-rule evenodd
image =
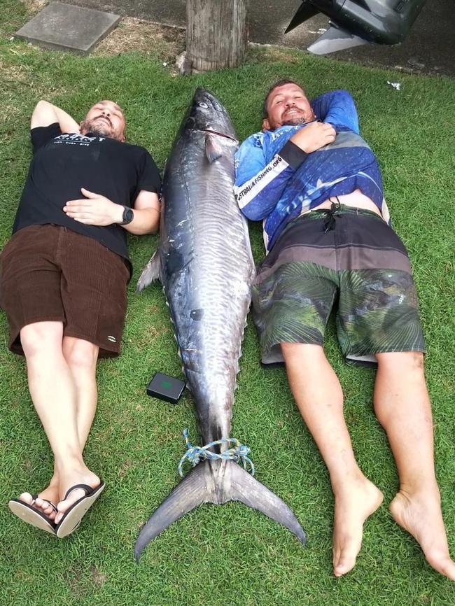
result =
M333 572L339 577L355 565L363 523L381 505L383 495L356 463L342 389L323 348L282 343L281 350L295 402L330 473L335 495Z

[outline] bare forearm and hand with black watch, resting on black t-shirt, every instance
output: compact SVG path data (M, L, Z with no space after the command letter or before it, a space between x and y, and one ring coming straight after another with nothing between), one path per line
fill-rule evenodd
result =
M89 192L85 188L80 191L85 196L77 200L69 200L63 207L64 212L75 221L85 225L98 225L104 227L123 220L122 204L112 202L106 196ZM134 218L128 225L122 227L130 232L141 236L143 234L154 234L158 230L160 221L160 200L155 192L141 190L134 201Z

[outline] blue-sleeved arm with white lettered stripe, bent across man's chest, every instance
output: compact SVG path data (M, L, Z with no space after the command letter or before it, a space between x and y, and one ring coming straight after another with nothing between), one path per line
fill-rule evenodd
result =
M330 124L311 122L299 129L266 164L262 147L245 143L236 155L235 199L242 213L255 221L267 217L281 198L289 179L307 155L335 141Z

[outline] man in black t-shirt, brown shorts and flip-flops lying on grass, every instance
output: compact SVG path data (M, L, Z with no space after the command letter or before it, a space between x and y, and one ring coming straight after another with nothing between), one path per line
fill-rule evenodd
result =
M9 347L27 360L29 390L55 457L50 484L10 509L64 537L104 483L83 448L97 404L97 358L118 355L131 276L126 232L156 232L160 175L151 155L125 143L125 117L99 101L80 126L39 101L34 157L13 236L0 256L0 304Z

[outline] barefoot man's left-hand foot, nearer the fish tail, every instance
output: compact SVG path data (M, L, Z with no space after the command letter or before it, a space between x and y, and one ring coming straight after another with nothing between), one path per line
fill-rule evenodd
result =
M362 476L335 491L333 574L346 575L356 564L362 546L363 523L381 505L384 495Z

